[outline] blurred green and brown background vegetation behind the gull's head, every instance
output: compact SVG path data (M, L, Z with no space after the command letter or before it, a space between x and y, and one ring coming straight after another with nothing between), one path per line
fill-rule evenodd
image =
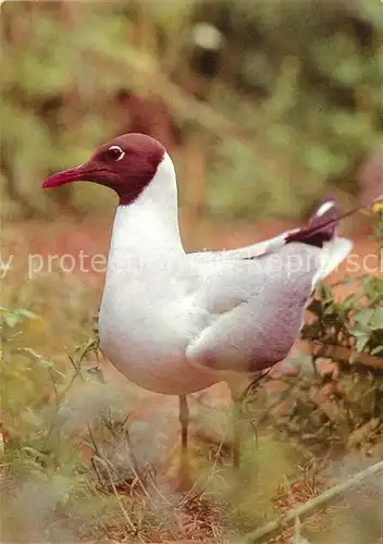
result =
M306 213L328 190L347 201L380 144L378 0L25 1L1 12L8 218L53 202L103 211L102 188L41 195L40 183L126 131L160 138L183 201L225 219Z

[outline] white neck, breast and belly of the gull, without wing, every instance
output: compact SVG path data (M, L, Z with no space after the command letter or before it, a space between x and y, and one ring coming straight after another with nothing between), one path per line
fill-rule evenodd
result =
M180 239L171 168L161 164L141 196L116 210L99 332L107 357L132 382L180 395L208 387L219 376L185 359L209 316L193 307L189 296L198 279Z

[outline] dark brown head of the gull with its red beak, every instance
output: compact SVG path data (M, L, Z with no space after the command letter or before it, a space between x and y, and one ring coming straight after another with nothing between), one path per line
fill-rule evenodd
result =
M164 147L145 134L124 134L99 147L76 168L51 175L42 187L71 182L94 182L115 190L121 205L133 202L153 178L165 154Z

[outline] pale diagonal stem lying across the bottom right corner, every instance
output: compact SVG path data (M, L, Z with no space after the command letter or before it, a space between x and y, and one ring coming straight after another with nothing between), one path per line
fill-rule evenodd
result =
M255 544L263 542L265 537L270 537L274 533L293 524L293 522L297 518L300 520L308 518L317 510L325 508L330 503L341 497L344 493L350 491L353 487L360 485L365 480L371 478L372 475L376 475L379 472L383 472L383 461L371 465L366 470L358 472L356 475L347 480L347 482L343 482L334 485L333 487L330 487L330 490L324 491L318 497L311 498L304 505L288 510L279 518L261 527L260 529L256 529L255 531L249 532L246 536L243 537L243 540L238 541L238 544Z

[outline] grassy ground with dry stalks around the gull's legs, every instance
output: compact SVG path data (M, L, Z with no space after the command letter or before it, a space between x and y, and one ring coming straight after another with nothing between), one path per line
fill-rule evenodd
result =
M325 428L325 441L311 436L314 446L321 443L320 453L305 443L301 430L312 435L312 429L307 410L297 412L297 399L301 410L309 407L310 416L316 410L307 403L310 387L299 387L295 376L287 380L294 380L288 398L286 387L267 385L246 401L257 432L249 426L242 470L235 474L231 409L222 403L215 406L214 394L207 403L203 393L192 403L195 485L186 494L174 492L170 482L176 470L178 426L173 405L166 405L165 397L150 405L151 397L144 395L140 406L149 406L137 413L141 393L113 378L92 331L96 284L58 271L25 282L22 270L5 280L4 306L12 310L2 310L1 324L2 542L233 542L347 478L368 456L380 455L360 447L373 433L379 444L378 426L368 440L349 444L353 432L362 429L357 419L342 452L332 457L337 425ZM304 361L302 356L298 359ZM306 380L310 386L329 385L329 376ZM360 374L359 380L366 385L368 379ZM333 382L342 380L334 375ZM286 401L283 413L276 408ZM358 405L358 399L353 403ZM156 406L163 411L156 413ZM285 424L291 408L295 432ZM323 405L317 410L323 411ZM370 410L368 404L363 410ZM381 416L378 420L381 424ZM314 515L305 523L305 535L311 544L338 544L342 539L378 544L382 489L376 481ZM272 542L286 543L293 532L286 530Z

